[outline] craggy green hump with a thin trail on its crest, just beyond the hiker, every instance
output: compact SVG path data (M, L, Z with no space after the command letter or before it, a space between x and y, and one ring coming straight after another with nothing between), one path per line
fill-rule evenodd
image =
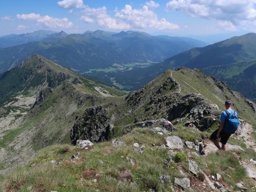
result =
M215 128L220 119L220 108L224 110L223 101L228 98L235 103L234 109L242 118L255 120L255 104L230 90L224 82L218 82L216 78L206 76L197 69L168 70L140 90L130 92L117 102L113 100L111 105L105 107L104 118L107 119L108 124L106 127L110 127L109 125L114 127L107 132L110 135L124 134L132 130L138 122L160 118L165 118L174 125L187 126L191 123L201 131ZM247 117L244 115L245 110L250 111L249 116L246 114ZM82 126L90 124L88 120L83 114L78 115L78 120L72 128L71 137L74 143L76 139L89 139L88 136L84 136ZM100 116L94 121L101 122ZM88 134L96 134L96 130L91 129Z

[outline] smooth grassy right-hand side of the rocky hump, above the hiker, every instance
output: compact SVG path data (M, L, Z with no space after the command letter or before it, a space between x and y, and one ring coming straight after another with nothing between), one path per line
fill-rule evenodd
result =
M199 93L204 96L210 104L217 104L220 110L225 110L224 101L231 99L233 108L238 112L240 118L249 122L255 120L255 114L252 112L252 108L248 106L246 98L239 92L230 90L226 84L204 75L200 70L183 68L181 72L174 71L172 73L173 77L180 84L184 85L182 86L181 93ZM213 84L216 84L216 86L212 86Z

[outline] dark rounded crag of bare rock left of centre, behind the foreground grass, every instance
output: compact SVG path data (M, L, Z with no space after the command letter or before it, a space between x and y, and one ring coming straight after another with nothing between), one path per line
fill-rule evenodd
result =
M76 144L77 140L104 141L110 139L112 129L106 108L89 108L83 115L76 117L70 139L73 144Z

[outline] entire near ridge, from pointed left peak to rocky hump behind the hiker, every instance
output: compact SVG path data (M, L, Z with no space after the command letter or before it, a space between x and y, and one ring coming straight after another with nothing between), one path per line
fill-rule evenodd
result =
M0 96L1 173L27 163L45 146L109 140L144 120L165 118L174 126L193 122L212 131L226 99L234 102L240 118L256 120L254 103L189 68L167 70L124 95L34 54L1 74Z

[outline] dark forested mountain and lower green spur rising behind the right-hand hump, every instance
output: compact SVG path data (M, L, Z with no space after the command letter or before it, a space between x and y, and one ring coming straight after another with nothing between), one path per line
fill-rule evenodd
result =
M256 34L248 33L202 48L192 48L147 68L112 74L112 77L125 85L127 90L136 90L165 70L181 66L198 68L256 102L254 62L249 62L256 60L255 45Z

